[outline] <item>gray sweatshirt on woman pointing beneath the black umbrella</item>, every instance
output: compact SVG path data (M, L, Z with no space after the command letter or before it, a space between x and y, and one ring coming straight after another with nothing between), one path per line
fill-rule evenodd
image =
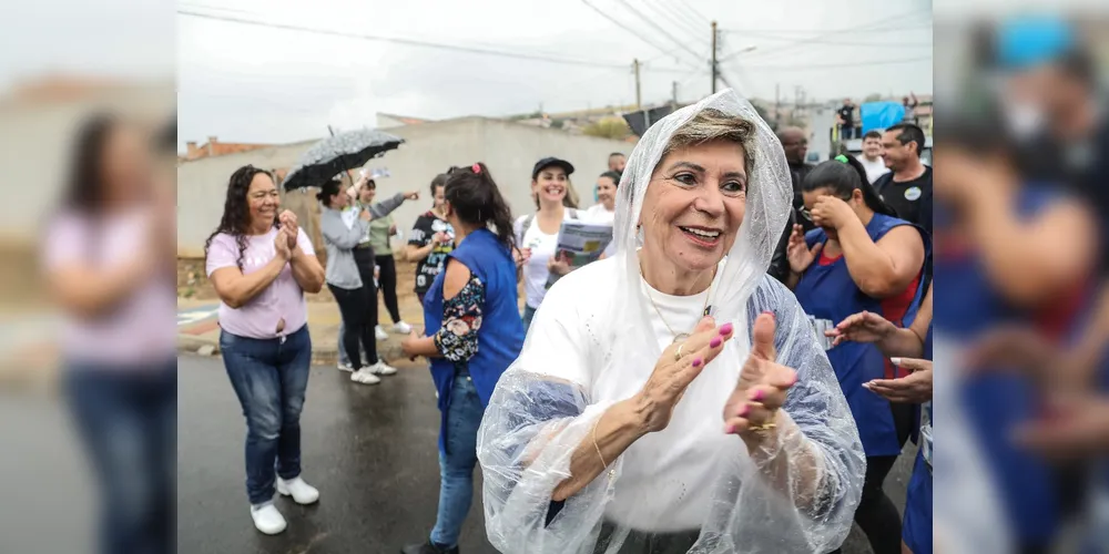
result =
M370 206L369 213L374 217L385 217L404 203L405 195L397 193L396 196ZM347 290L362 288L354 248L366 236L367 229L369 222L359 217L354 220L353 226L347 227L343 223L342 212L321 205L319 232L324 235L324 246L327 248L327 270L324 278L328 285Z

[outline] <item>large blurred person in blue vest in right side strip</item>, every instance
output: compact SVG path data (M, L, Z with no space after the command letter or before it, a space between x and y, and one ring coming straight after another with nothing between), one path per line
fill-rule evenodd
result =
M980 349L1006 328L1056 342L1075 335L1092 298L1098 226L1078 198L1020 175L999 124L964 126L936 151L944 167L936 181L936 263L947 283L936 298L937 343L968 350L943 368L957 379L948 398L968 413L1011 542L1019 552L1048 552L1089 488L1014 435L1057 417L1044 384L1058 387L1065 376L1054 367L1047 381L1029 378L1013 371L1018 365L1010 359L984 359ZM946 424L944 433L947 441ZM943 482L946 468L936 475L938 517L956 507L949 505L956 489Z

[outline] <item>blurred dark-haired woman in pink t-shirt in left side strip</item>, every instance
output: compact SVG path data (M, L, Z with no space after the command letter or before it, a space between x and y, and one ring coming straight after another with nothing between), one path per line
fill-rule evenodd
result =
M65 197L43 229L61 310L61 386L103 505L99 552L170 552L175 505L173 165L155 174L133 122L89 120ZM157 141L173 155L176 127ZM169 156L166 156L169 153Z

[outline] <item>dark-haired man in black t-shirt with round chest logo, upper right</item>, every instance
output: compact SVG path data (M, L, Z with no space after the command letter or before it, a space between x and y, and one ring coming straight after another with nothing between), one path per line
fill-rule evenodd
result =
M920 162L924 131L912 123L898 123L882 134L882 157L889 173L874 182L874 189L897 216L917 225L925 225L924 214L932 207L932 167ZM930 227L932 222L927 222Z

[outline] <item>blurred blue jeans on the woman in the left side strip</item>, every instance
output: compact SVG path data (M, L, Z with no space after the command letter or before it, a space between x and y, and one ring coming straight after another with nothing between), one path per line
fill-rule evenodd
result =
M62 387L102 492L98 551L162 554L176 543L176 360L69 363Z

